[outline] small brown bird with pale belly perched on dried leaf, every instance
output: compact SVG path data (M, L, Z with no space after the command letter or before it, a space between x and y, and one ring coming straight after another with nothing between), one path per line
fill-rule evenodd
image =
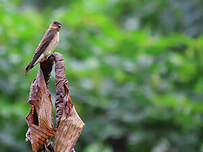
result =
M48 59L53 53L59 42L59 31L62 28L62 24L58 21L53 21L48 30L45 32L42 40L35 50L32 61L25 68L25 74L29 72L36 64L42 63Z

